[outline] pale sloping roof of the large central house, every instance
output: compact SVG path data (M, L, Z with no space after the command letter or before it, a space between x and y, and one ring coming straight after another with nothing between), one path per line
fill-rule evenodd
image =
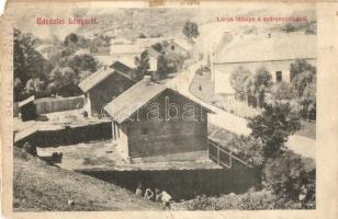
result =
M160 95L165 90L171 89L165 84L155 83L147 81L147 79L143 79L110 102L104 107L104 111L109 113L115 122L121 124L133 116L139 108L146 106L151 100ZM173 90L171 91L176 92ZM184 97L190 100L187 96ZM202 107L207 112L211 112L209 108L205 108L204 106Z

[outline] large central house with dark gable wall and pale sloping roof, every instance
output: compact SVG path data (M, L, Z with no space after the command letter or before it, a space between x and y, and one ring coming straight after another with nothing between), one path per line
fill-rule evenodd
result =
M146 77L109 103L113 145L126 161L207 149L210 110Z

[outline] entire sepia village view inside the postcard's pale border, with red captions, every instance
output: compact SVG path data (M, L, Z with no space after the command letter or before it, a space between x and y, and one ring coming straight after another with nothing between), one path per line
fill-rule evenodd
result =
M316 4L252 5L18 9L13 211L316 209Z

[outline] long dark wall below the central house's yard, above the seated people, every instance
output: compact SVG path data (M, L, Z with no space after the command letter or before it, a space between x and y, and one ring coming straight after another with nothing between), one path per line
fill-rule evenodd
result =
M188 199L196 195L241 194L250 187L261 187L261 173L257 169L166 170L166 171L91 171L83 174L114 183L135 192L138 183L144 189L158 187L173 199Z

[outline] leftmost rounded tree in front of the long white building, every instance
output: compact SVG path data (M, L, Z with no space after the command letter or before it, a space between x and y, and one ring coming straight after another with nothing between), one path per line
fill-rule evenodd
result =
M235 90L235 95L244 101L248 94L248 89L252 83L252 73L243 66L238 67L230 76L230 84Z

